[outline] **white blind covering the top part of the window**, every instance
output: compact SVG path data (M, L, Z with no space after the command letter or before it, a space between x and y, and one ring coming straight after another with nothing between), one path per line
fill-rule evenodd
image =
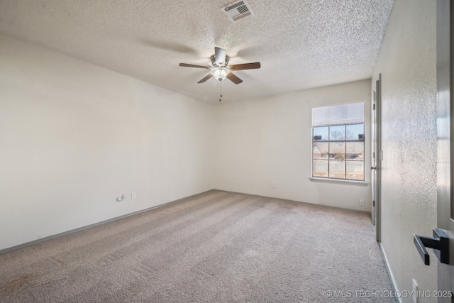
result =
M314 107L312 126L331 126L364 123L364 102Z

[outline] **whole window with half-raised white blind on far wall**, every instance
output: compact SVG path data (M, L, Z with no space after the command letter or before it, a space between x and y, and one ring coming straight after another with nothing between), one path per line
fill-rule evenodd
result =
M312 109L312 177L364 181L364 102Z

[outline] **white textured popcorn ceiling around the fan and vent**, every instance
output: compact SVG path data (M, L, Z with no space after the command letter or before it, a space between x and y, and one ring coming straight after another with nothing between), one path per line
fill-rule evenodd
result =
M221 0L0 0L0 32L174 92L216 103L372 76L393 0L248 0L231 22ZM241 84L211 78L214 47ZM1 46L0 46L1 47Z

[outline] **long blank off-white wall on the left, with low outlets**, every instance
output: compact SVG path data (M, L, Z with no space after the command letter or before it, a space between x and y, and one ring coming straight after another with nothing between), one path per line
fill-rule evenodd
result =
M5 35L0 71L0 250L213 188L212 105Z

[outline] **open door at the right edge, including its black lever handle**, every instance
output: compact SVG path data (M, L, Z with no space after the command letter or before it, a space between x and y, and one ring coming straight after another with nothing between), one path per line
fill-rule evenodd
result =
M432 237L414 236L423 262L437 264L438 302L454 302L453 12L454 2L437 1L437 228ZM433 248L436 258L430 258L426 248Z

